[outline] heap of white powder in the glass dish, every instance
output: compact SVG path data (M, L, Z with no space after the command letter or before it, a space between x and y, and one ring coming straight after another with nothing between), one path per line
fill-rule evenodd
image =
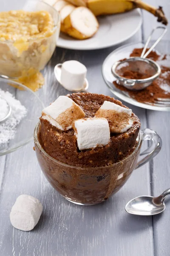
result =
M7 143L13 139L16 133L16 126L19 124L21 119L26 116L27 110L21 105L20 101L15 99L8 91L0 89L0 119L6 116L8 113L8 105L11 106L11 115L8 117L6 122L0 124L0 144ZM4 100L5 99L5 100Z

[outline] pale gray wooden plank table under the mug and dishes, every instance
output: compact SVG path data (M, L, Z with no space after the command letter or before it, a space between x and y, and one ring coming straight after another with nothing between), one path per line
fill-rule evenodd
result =
M20 0L22 1L22 0ZM16 5L19 4L17 2ZM0 0L0 11L8 10L12 0ZM147 0L164 6L170 19L169 0ZM146 40L156 18L142 11L143 25L133 38ZM118 47L118 46L117 46ZM161 47L170 49L170 31ZM102 62L116 49L73 51L56 49L45 67L45 85L39 95L48 105L64 90L54 78L54 65L75 59L88 68L89 91L113 96L102 79ZM125 186L110 200L92 207L71 204L60 196L42 175L33 142L0 157L0 256L169 256L170 201L163 214L138 217L125 212L125 204L139 195L159 195L170 187L170 113L149 111L128 105L136 113L142 128L156 130L163 147L153 161L133 172ZM43 213L31 232L14 229L9 220L11 206L20 194L40 199Z

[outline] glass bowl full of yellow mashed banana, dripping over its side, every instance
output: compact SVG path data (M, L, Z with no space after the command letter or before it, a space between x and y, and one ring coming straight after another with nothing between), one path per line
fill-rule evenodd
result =
M31 11L27 7L0 12L0 75L15 78L35 91L44 83L39 71L55 50L60 21L58 12L46 3L27 3Z

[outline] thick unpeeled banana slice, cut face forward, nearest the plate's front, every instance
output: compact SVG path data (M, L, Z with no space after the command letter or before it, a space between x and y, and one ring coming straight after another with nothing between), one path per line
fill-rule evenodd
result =
M91 38L98 30L99 23L86 7L77 7L64 19L65 32L77 39Z

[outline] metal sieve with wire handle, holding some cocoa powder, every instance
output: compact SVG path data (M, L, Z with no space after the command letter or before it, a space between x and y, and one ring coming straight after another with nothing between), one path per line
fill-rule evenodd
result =
M163 29L164 31L153 44L152 47L146 52L147 46L152 38L153 33L156 29ZM149 86L160 74L161 68L158 63L155 61L146 58L147 55L153 50L153 48L159 43L161 38L167 32L167 28L163 26L158 26L152 30L149 38L147 39L146 44L140 57L131 57L122 61L116 61L112 66L113 76L118 80L118 83L123 85L129 90L142 90ZM138 76L146 77L143 79L131 79L126 78L125 74L122 72L124 69L127 73L133 72ZM149 75L148 75L149 74Z

